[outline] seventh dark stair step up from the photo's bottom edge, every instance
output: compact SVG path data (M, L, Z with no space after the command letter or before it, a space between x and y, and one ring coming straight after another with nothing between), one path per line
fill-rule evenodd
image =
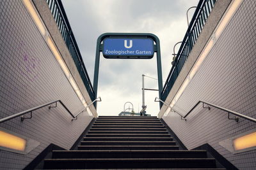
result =
M157 128L91 128L90 131L167 131L166 128L157 129Z

